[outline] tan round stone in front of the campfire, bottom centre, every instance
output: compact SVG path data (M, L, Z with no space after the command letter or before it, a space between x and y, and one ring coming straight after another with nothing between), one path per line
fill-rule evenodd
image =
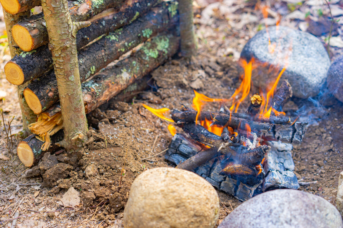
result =
M216 190L192 172L154 168L132 183L124 210L126 228L212 228L219 215Z

